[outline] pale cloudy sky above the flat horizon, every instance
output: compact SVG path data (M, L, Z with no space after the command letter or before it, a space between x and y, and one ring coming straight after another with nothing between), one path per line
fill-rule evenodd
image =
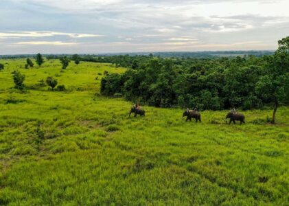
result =
M277 49L289 0L1 0L0 54Z

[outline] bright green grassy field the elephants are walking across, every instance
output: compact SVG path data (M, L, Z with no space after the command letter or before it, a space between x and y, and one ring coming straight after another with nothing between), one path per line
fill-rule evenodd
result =
M289 108L244 111L245 125L227 125L227 111L204 111L202 123L182 110L100 95L111 65L58 60L24 69L0 60L0 205L288 205ZM25 93L11 89L25 73ZM48 91L54 76L67 91ZM97 79L96 79L97 78ZM43 141L40 141L43 139Z

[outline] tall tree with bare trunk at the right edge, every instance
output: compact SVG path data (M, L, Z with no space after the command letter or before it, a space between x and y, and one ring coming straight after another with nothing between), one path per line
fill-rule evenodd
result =
M264 100L274 102L272 124L279 104L289 102L289 36L278 41L278 45L275 54L267 57L268 65L255 87Z

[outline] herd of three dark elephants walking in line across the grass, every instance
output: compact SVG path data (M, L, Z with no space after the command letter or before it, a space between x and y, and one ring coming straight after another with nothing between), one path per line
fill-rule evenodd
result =
M131 113L135 113L135 117L137 117L137 115L141 115L141 116L145 116L145 111L143 108L139 107L139 106L132 106L132 108L130 109L130 114L128 117L130 117ZM192 121L192 119L196 119L196 122L201 122L200 119L200 113L198 111L195 110L187 110L183 113L183 119L187 117L187 119L185 119L185 121L187 122ZM233 122L233 124L236 124L235 121L240 121L240 124L245 123L245 116L242 113L233 113L233 112L229 112L227 113L226 116L226 122L227 119L230 119L229 124L231 124L231 122Z

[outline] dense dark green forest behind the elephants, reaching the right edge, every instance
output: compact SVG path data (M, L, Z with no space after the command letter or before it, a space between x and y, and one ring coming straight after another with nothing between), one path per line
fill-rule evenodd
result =
M106 56L95 61L118 62L126 73L102 79L104 95L160 107L220 110L289 104L289 37L273 55L235 58L160 58ZM89 59L85 59L89 60Z

